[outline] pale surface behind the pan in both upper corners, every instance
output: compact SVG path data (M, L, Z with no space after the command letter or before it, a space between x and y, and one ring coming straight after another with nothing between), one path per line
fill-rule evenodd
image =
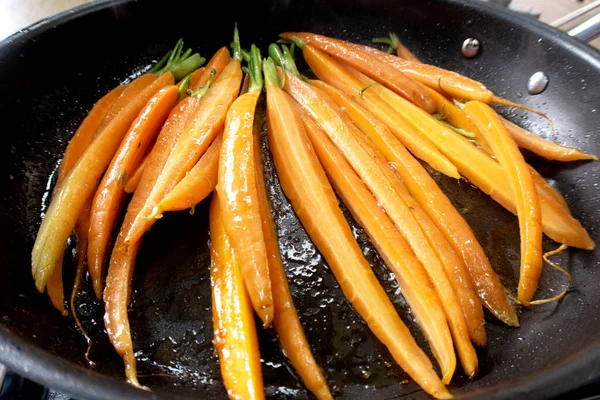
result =
M537 9L541 11L540 19L548 23L588 4L590 1L512 0L511 7ZM0 0L0 39L49 15L89 2L91 0ZM596 40L593 44L600 48L600 40Z

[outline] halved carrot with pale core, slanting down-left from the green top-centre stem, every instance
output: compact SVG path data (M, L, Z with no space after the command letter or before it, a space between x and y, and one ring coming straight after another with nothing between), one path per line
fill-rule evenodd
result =
M125 245L140 240L152 227L160 214L155 208L157 204L183 179L222 131L227 110L237 97L241 81L240 61L233 58L218 73L204 97L195 100L198 101L196 112L175 143L159 179L154 183L152 193L127 234Z

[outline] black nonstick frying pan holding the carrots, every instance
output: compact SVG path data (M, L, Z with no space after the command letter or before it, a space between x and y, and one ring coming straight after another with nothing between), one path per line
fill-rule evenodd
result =
M362 43L397 32L425 62L481 80L503 97L547 112L558 129L558 142L600 154L599 53L500 8L458 0L124 0L68 11L0 44L0 362L9 369L84 399L226 397L211 343L206 201L194 216L181 212L163 218L144 239L138 256L130 318L141 379L153 392L124 382L121 360L103 329L102 304L89 290L77 306L94 340L91 358L96 365L87 363L86 343L73 321L35 291L30 251L53 171L94 101L147 68L179 37L209 56L229 43L234 21L244 45L256 43L263 49L284 30ZM471 60L460 52L469 37L482 44ZM526 83L536 71L546 72L550 84L542 94L530 96ZM501 111L550 136L536 116ZM345 399L426 398L342 295L281 192L266 142L263 153L294 300L334 392ZM600 164L528 158L566 196L574 216L598 242ZM516 218L468 182L434 176L514 291L519 264ZM426 348L393 276L348 218L400 315ZM556 244L545 239L544 246ZM67 258L67 263L72 261ZM598 252L570 250L558 260L573 274L573 290L560 304L522 310L518 329L488 318L488 345L478 351L479 376L473 382L455 377L451 389L457 397L550 398L600 377ZM65 268L64 279L70 286L73 268ZM546 269L538 296L550 296L564 284L563 277ZM261 331L260 342L267 394L310 398L272 330Z

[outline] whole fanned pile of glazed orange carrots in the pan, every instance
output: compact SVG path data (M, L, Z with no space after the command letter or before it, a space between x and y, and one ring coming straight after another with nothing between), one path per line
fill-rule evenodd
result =
M331 399L294 308L265 187L255 115L266 92L269 148L307 233L398 364L430 395L450 398L457 359L470 378L477 374L475 347L487 340L483 307L509 326L519 319L469 225L418 159L468 179L517 215L516 301L531 306L548 301L533 300L542 233L561 249L594 243L520 148L556 161L596 157L503 119L489 104L525 107L422 63L395 36L384 42L397 55L312 33L281 38L291 46L272 44L263 59L256 46L241 48L236 28L232 52L219 49L204 67L179 41L149 72L96 103L67 147L38 232L36 287L67 315L62 264L74 233L71 310L87 265L126 377L143 387L127 315L136 254L165 212L193 209L212 193L214 345L229 396L264 397L256 313L263 329L274 326L306 387ZM296 46L318 79L298 72ZM395 275L441 376L365 260L338 197Z

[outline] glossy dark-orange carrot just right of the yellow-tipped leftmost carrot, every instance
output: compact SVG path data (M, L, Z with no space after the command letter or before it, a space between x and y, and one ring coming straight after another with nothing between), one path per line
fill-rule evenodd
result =
M179 100L177 86L159 90L144 106L121 142L94 196L88 246L88 269L96 298L102 297L106 257L116 220L125 201L127 174L136 169Z

